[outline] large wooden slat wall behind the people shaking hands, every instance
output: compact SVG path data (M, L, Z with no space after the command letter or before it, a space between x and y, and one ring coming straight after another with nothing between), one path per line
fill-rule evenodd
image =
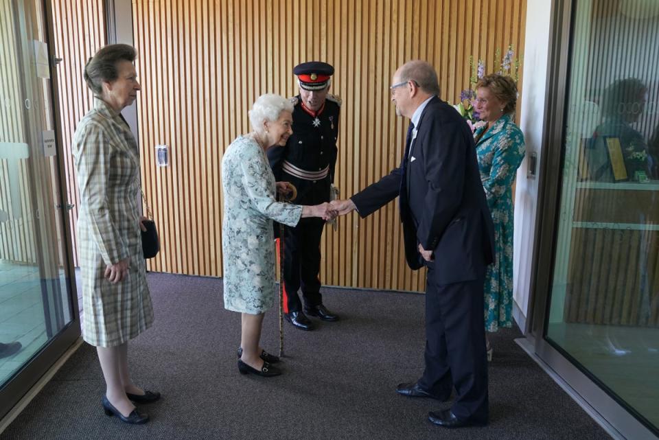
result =
M524 0L133 0L143 91L138 100L143 189L163 251L150 269L222 275L220 161L249 130L262 93L298 93L292 68L325 60L343 98L336 183L343 197L377 181L402 157L407 121L395 117L389 84L405 61L440 74L441 97L469 86L468 59L498 69L494 52L524 50ZM521 82L520 82L521 85ZM170 166L154 146L170 146ZM395 203L326 230L327 285L424 290L425 273L404 263Z

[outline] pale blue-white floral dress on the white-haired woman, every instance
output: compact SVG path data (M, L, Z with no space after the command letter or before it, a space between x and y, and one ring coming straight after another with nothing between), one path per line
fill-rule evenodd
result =
M264 150L240 136L222 157L224 308L259 314L275 303L273 220L295 226L300 205L277 202Z

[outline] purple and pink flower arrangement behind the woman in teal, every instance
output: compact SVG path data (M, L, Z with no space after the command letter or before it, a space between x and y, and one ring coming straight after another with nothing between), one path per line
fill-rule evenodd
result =
M515 56L515 51L513 51L513 45L508 46L508 50L501 58L501 64L496 73L500 75L507 75L513 78L515 82L519 80L520 73L520 59L513 58ZM494 58L499 59L501 57L501 50L496 49L494 51ZM460 93L460 102L455 104L453 107L460 113L460 115L465 118L467 124L469 124L472 132L476 129L481 128L486 123L481 121L478 112L474 109L474 104L472 101L476 98L476 91L474 91L474 86L485 76L485 62L481 59L478 59L478 62L474 63L474 56L469 57L469 69L472 73L470 76L470 88L461 91Z

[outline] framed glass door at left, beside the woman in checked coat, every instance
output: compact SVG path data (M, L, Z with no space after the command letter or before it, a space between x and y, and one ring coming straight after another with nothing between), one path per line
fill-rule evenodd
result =
M0 417L80 334L46 11L0 0Z

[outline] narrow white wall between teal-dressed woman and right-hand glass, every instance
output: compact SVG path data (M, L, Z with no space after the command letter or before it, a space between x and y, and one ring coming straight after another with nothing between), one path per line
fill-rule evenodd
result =
M523 93L520 102L520 128L524 132L527 154L517 172L515 192L515 239L513 253L513 316L522 331L526 327L531 290L533 244L535 242L535 213L542 149L542 126L545 118L547 60L549 56L549 27L551 1L527 1L527 25L524 37ZM529 157L537 154L535 178L527 178Z

